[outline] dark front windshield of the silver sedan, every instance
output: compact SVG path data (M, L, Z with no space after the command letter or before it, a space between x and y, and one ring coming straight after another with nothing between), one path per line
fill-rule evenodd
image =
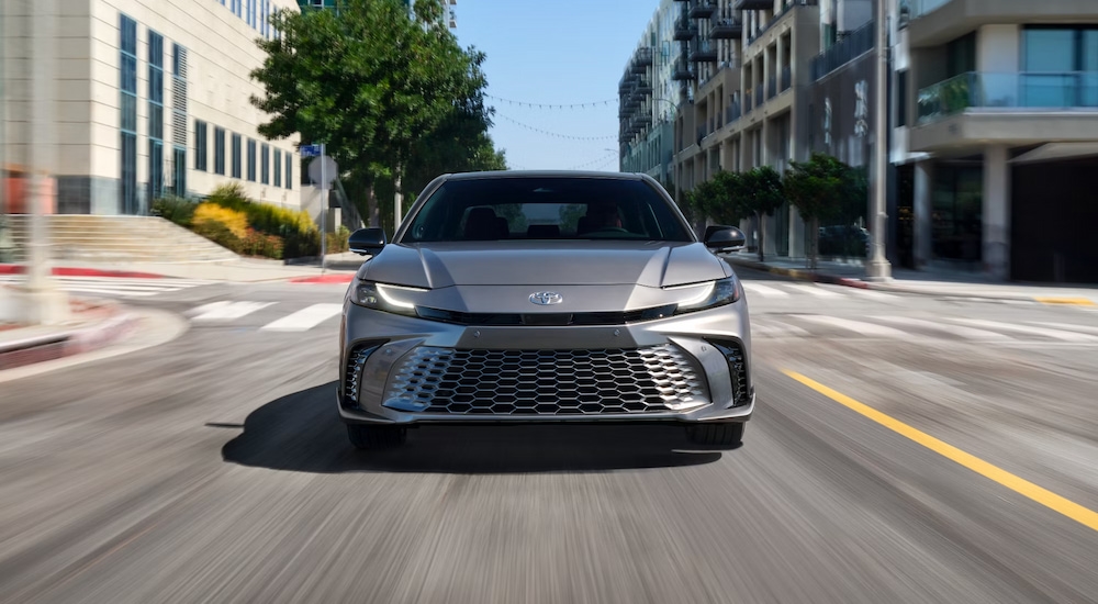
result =
M444 182L401 243L498 239L693 241L643 181L523 177Z

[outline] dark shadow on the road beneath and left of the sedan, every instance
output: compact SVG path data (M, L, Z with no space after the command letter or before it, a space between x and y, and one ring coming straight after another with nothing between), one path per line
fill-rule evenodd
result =
M336 383L271 401L222 448L231 463L313 473L602 472L712 463L685 430L660 425L426 426L397 449L359 451L335 410ZM728 450L721 449L721 450Z

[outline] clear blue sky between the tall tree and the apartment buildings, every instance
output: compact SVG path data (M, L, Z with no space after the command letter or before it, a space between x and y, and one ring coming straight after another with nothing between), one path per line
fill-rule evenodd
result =
M495 108L491 130L513 169L616 171L617 85L658 0L458 0L462 46L488 58L485 99ZM508 104L612 102L586 109L538 109ZM508 120L509 119L509 120ZM574 137L534 132L518 125Z

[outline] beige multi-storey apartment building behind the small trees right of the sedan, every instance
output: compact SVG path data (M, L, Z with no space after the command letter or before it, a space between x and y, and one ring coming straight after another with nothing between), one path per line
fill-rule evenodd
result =
M676 194L718 170L808 157L809 60L819 53L817 0L677 0L682 45L675 121ZM750 228L764 228L769 255L803 257L804 222L788 204ZM749 243L750 245L750 243Z

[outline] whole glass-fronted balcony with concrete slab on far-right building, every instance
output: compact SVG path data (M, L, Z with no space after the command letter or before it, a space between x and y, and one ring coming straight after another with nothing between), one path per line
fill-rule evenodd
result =
M919 90L914 152L1098 141L1098 71L970 72Z

